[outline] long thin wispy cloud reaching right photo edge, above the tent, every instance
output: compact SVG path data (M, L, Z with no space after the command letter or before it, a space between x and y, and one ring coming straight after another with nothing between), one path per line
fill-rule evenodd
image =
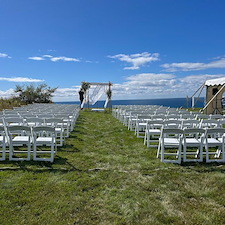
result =
M192 62L182 62L182 63L166 63L161 65L167 72L175 71L192 71L192 70L205 70L205 69L221 69L225 68L225 57L209 63L192 63Z

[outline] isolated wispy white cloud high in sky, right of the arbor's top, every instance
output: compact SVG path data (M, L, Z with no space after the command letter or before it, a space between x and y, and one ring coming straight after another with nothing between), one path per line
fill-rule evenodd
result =
M131 54L131 55L118 54L118 55L108 56L108 57L132 64L132 66L124 67L125 70L137 70L137 69L140 69L141 66L147 63L158 61L159 53L143 52L143 53L137 53L137 54Z

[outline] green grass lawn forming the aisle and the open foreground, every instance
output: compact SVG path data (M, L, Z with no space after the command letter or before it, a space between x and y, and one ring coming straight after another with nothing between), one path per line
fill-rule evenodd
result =
M225 165L161 163L111 114L82 111L53 164L0 162L0 224L225 224Z

